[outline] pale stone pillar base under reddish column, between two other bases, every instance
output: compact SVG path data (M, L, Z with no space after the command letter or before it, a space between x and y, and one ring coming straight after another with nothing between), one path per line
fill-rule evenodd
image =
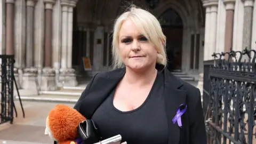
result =
M55 69L43 68L40 87L41 87L41 90L43 91L57 90L58 87L55 81Z

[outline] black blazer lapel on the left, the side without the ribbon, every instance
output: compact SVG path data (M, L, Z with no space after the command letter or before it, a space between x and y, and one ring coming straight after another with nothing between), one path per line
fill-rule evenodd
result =
M83 109L86 109L84 116L88 119L92 117L95 110L108 97L109 93L116 87L119 81L123 78L125 69L117 69L113 73L107 73L100 76L93 82L89 94L83 100Z

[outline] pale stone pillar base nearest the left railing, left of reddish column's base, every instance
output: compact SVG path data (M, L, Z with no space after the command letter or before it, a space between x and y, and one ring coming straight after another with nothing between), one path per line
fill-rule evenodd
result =
M37 69L25 68L22 77L22 88L25 90L38 90Z

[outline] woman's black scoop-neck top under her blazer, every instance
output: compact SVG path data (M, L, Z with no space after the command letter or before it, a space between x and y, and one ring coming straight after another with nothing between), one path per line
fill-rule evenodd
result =
M166 144L168 139L164 107L164 77L158 72L147 99L131 111L120 111L113 105L115 89L92 116L101 137L107 139L122 135L122 142L130 144Z

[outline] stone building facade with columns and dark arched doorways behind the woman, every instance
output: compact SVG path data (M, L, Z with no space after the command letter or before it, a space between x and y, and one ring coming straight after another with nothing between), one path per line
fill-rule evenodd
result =
M256 46L254 0L133 3L161 22L172 71L198 79L213 52ZM0 0L0 53L15 55L15 77L22 89L77 86L78 73L111 68L111 30L125 5L123 0ZM83 57L90 58L91 71L83 70Z

